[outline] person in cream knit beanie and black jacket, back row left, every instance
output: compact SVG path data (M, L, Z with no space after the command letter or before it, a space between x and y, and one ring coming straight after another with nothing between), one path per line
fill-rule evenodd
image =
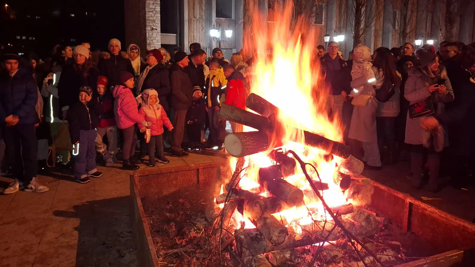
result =
M132 63L127 58L123 58L120 54L121 44L117 39L111 39L109 41L109 51L111 52L111 58L100 59L97 63L100 75L106 76L109 80L109 86L114 87L119 83L121 71L127 71L134 74Z

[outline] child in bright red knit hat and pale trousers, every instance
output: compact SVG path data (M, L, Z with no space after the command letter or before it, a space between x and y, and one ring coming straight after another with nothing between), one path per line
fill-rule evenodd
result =
M97 100L102 106L102 114L99 116L97 124L97 139L95 143L96 151L104 157L105 166L112 166L117 159L117 123L114 115L114 97L111 90L107 88L107 77L97 77ZM107 135L107 145L103 142L104 135Z

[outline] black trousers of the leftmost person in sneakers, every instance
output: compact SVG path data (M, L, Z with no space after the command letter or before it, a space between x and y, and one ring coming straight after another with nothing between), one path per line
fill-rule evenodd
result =
M17 124L3 128L6 157L13 177L28 185L38 172L38 140L35 124Z

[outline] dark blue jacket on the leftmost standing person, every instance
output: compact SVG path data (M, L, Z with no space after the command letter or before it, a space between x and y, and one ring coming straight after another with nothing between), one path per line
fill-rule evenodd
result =
M5 116L17 115L18 124L36 124L37 101L38 87L31 72L20 67L13 77L6 70L0 74L0 102Z

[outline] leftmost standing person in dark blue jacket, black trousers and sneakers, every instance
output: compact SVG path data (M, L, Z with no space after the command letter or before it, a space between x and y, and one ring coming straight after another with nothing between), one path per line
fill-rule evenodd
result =
M48 188L39 184L36 178L38 141L35 105L38 88L31 73L19 68L19 60L17 55L4 55L5 70L0 73L0 101L6 116L2 133L15 178L3 193L15 193L23 186L25 191L42 193Z

